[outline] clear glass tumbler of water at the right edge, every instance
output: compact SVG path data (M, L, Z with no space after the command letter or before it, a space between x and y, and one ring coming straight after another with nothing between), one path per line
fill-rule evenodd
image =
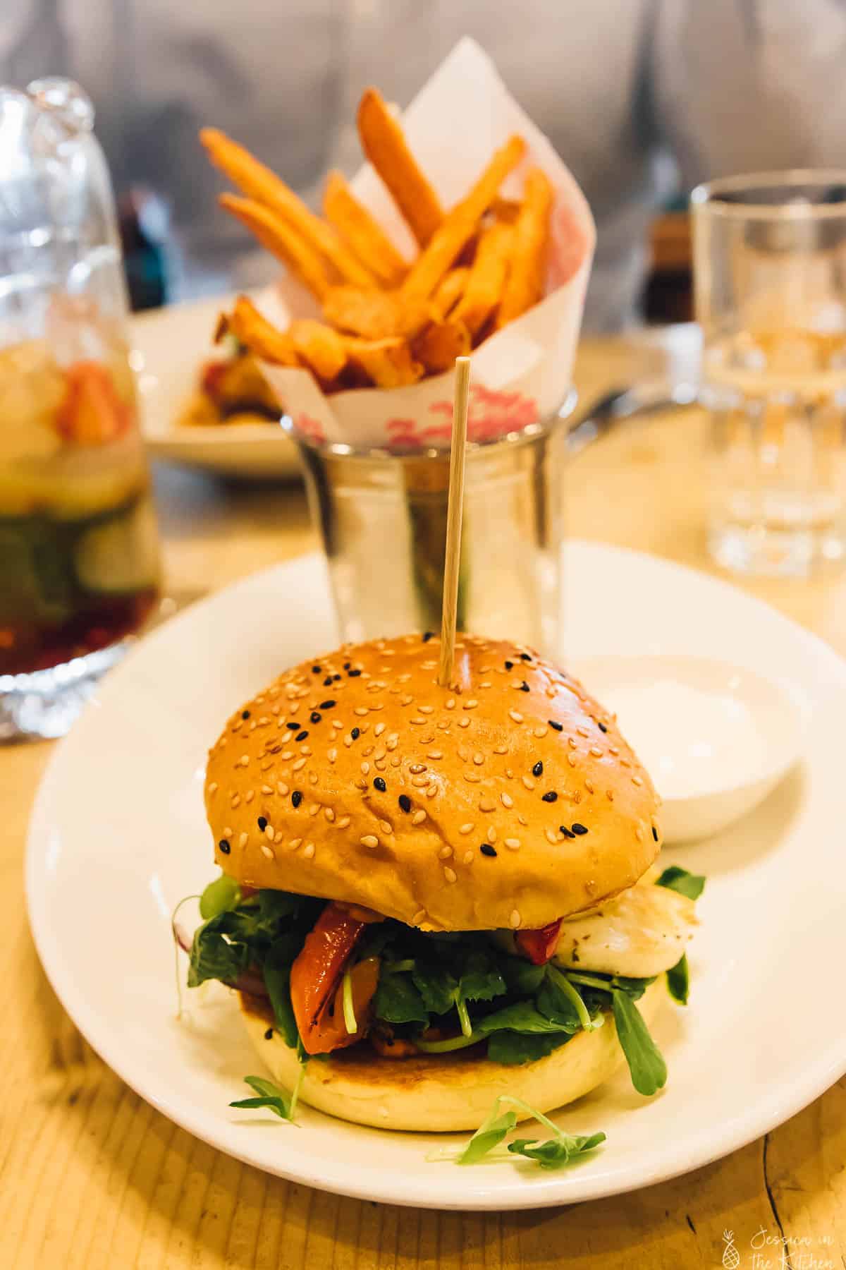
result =
M724 568L805 577L846 555L846 170L693 194L709 542Z

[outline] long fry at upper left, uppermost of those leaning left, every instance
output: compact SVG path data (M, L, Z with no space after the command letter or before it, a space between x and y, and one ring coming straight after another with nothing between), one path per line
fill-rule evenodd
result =
M312 211L249 150L232 141L217 128L203 128L200 141L209 159L247 198L264 203L298 234L313 254L325 257L341 278L358 287L373 287L370 271L339 239L335 230L315 216Z

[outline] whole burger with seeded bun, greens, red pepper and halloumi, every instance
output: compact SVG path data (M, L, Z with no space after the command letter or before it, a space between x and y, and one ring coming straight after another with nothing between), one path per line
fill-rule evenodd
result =
M360 1124L473 1129L625 1062L654 1093L703 880L657 875L660 800L572 676L471 635L449 687L438 662L430 634L348 644L230 718L189 986L237 989L274 1080Z

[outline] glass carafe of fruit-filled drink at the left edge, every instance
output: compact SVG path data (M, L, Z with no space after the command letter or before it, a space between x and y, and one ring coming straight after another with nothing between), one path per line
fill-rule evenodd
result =
M65 732L159 592L93 119L67 80L0 89L0 739Z

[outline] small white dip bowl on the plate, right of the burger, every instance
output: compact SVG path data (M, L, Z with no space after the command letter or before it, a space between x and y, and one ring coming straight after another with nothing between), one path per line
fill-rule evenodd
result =
M580 658L573 671L649 772L665 842L719 833L802 756L809 709L785 681L675 654Z

